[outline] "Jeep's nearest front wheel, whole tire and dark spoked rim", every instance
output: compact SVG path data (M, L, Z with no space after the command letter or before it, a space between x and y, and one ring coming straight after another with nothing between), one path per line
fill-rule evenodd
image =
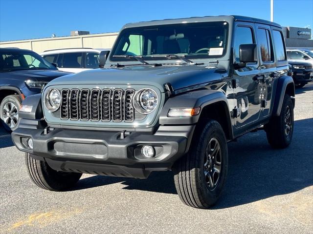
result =
M209 120L201 129L189 153L176 162L173 171L181 201L191 207L207 209L222 193L228 151L224 131L217 121Z

